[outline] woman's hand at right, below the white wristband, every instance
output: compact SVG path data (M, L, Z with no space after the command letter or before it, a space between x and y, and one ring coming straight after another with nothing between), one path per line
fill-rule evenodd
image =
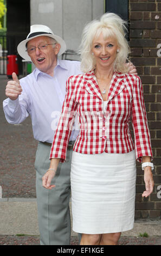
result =
M144 169L144 181L146 190L143 192L142 197L148 197L153 192L154 187L153 175L149 166Z

